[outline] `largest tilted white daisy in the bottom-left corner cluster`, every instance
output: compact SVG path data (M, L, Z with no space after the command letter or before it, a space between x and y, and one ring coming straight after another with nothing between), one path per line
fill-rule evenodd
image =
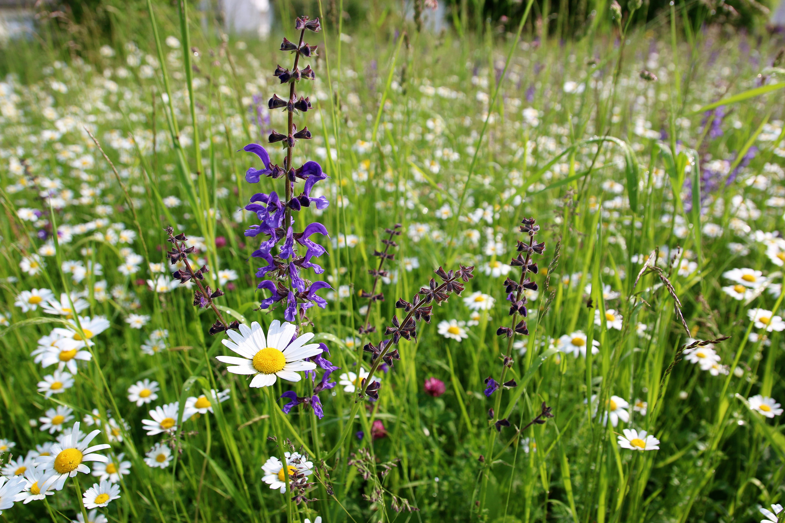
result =
M100 461L107 463L108 457L94 452L108 449L110 445L101 443L100 445L89 446L100 433L100 430L93 430L82 438L82 431L79 430L79 422L74 423L71 434L68 434L63 441L52 445L51 456L38 456L35 464L45 470L54 470L55 475L49 481L55 482L55 490L60 490L65 484L65 480L73 478L77 473L89 474L90 468L85 462Z

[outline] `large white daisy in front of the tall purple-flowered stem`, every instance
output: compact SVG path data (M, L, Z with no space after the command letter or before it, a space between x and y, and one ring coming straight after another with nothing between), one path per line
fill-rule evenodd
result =
M234 350L242 358L236 356L218 356L216 359L230 365L228 372L233 374L254 375L249 387L269 387L276 383L276 377L283 380L300 381L298 372L316 369L316 363L305 361L322 353L319 343L306 344L314 336L313 332L305 332L296 340L294 333L297 327L289 322L272 321L265 337L265 332L256 321L248 327L240 324L239 332L227 330L232 340L221 340L226 347Z

